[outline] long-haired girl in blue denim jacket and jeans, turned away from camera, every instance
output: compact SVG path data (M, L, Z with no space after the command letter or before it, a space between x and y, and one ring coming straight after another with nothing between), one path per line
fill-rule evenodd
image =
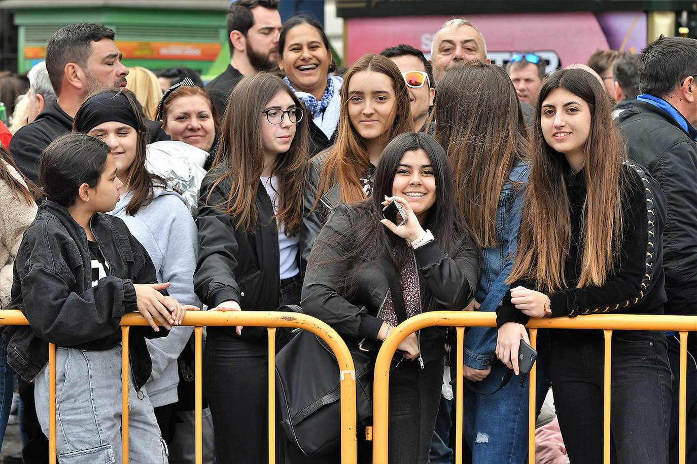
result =
M480 62L445 74L438 84L436 121L436 138L448 147L453 166L459 209L482 247L473 307L494 311L509 288L505 281L530 171L528 129L503 68ZM496 328L468 328L464 346L465 381L481 392L496 390L507 370L496 358ZM468 388L463 394L464 440L472 462L526 461L527 384L521 388L518 378L512 378L491 396Z

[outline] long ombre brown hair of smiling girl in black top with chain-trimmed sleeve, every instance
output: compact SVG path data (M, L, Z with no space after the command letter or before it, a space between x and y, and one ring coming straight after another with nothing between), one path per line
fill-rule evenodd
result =
M581 219L581 277L577 288L603 285L618 265L622 231L622 191L627 175L622 168L625 149L613 124L612 104L590 73L560 70L542 86L535 106L533 168L528 179L518 253L508 282L535 279L539 289L555 291L569 285L564 264L571 245L569 195L565 184L567 161L544 140L542 102L556 88L581 97L590 108L590 134L583 152L587 193Z

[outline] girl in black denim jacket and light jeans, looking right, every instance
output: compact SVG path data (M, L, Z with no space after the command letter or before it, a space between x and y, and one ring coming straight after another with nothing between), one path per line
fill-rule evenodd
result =
M151 327L130 330L130 462L167 463L167 447L144 383L144 337L167 334L185 307L160 290L153 263L114 209L121 180L109 147L66 134L39 159L46 194L15 261L13 309L30 326L5 330L8 362L36 384L48 435L48 343L56 344L56 452L61 463L121 463L121 317L139 311ZM158 325L167 330L161 330Z

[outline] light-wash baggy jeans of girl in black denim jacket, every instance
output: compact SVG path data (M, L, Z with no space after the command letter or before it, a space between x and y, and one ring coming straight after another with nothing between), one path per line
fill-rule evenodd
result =
M48 366L34 381L36 415L48 436ZM145 389L129 379L132 464L167 464L167 445ZM56 454L61 464L121 463L121 344L105 351L56 348Z

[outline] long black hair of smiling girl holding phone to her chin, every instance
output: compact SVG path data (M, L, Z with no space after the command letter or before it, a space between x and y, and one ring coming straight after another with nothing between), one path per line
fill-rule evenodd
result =
M371 198L354 203L358 214L355 219L355 239L351 242L351 248L333 262L362 262L380 259L391 262L395 269L401 269L404 264L413 259L411 249L404 239L392 233L381 224L383 218L382 201L385 195L392 196L392 184L399 168L401 158L405 152L411 150L424 150L431 160L431 166L436 179L436 202L429 209L424 221L424 229L429 229L438 240L438 245L450 256L457 254L462 243L472 242L473 236L466 223L452 201L454 198L454 185L450 161L443 147L436 139L424 132L406 132L395 137L380 155L380 161L375 170L375 182ZM321 236L316 243L322 243ZM325 238L331 245L333 237ZM358 270L356 271L358 272ZM344 279L344 285L350 286L354 275L337 276Z

